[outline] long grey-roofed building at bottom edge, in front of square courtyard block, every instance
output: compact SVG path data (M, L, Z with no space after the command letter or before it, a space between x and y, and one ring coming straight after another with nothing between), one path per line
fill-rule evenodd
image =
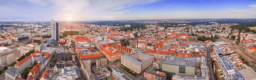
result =
M139 80L138 78L126 72L124 69L122 69L119 66L116 68L113 68L112 74L113 74L113 77L116 78L117 80Z

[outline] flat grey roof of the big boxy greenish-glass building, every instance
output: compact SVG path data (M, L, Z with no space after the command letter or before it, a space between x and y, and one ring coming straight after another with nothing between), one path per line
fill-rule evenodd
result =
M162 63L173 65L195 66L196 58L167 56Z

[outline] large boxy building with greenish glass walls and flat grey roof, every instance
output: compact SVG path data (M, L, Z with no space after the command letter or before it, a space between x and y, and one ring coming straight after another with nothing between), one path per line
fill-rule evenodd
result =
M162 62L162 71L167 76L174 74L193 77L196 74L195 58L166 56Z

